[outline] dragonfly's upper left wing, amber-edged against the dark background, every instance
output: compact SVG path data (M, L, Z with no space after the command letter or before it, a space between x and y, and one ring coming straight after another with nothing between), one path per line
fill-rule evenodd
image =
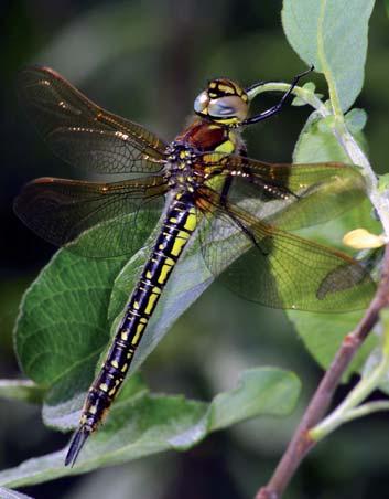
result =
M43 138L64 161L98 173L161 169L165 142L97 106L53 70L23 70L18 93Z

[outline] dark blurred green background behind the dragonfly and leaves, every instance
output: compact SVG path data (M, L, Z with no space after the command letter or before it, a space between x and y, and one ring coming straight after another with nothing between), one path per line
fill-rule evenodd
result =
M283 35L279 0L3 1L0 9L0 378L18 378L11 337L18 305L53 248L12 214L12 199L25 181L64 171L18 107L18 70L30 63L53 66L98 104L171 140L208 78L228 76L245 85L289 82L305 65ZM378 2L357 105L368 112L366 135L380 172L388 170L388 30ZM325 93L323 79L314 79ZM258 106L269 107L277 97L263 96ZM307 114L306 108L287 108L252 127L246 135L250 156L290 160ZM252 497L269 478L321 376L284 315L215 285L143 368L155 391L209 400L231 387L244 369L263 364L301 376L303 394L290 417L258 418L215 434L186 454L163 454L24 491L35 498L66 499ZM387 416L377 415L337 431L305 460L285 497L388 497L388 423ZM1 469L66 442L67 436L43 427L40 407L1 401Z

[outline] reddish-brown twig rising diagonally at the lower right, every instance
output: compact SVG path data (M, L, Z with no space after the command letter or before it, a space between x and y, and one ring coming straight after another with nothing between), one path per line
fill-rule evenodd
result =
M313 395L300 425L296 427L284 455L275 468L273 476L268 485L258 491L256 499L279 499L281 497L301 461L316 444L309 437L309 431L323 418L343 373L377 322L380 310L388 305L389 245L387 245L385 250L381 282L375 298L355 330L349 332L343 340L339 350L335 354L332 364L317 386L317 390Z

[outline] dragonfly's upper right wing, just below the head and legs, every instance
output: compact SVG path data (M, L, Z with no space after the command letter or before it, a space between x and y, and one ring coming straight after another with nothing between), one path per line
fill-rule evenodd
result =
M323 223L366 199L358 169L339 162L266 163L220 153L208 155L207 161L209 178L230 179L231 203L278 227Z

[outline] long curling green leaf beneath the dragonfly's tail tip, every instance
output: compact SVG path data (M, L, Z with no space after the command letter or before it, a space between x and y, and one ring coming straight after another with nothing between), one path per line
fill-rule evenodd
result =
M139 376L120 392L104 431L94 435L74 468L65 449L0 473L0 484L17 487L127 463L163 450L185 450L208 433L257 415L287 415L300 392L298 378L262 368L242 373L238 386L206 404L183 396L150 394Z

